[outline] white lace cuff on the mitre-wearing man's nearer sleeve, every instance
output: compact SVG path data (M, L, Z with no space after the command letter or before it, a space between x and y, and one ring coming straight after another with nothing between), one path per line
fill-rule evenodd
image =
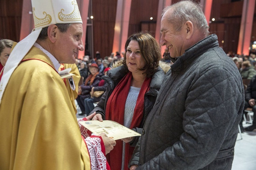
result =
M90 159L91 159L92 170L106 169L106 157L101 152L100 141L101 141L100 138L87 137L85 139L88 152L90 155Z

